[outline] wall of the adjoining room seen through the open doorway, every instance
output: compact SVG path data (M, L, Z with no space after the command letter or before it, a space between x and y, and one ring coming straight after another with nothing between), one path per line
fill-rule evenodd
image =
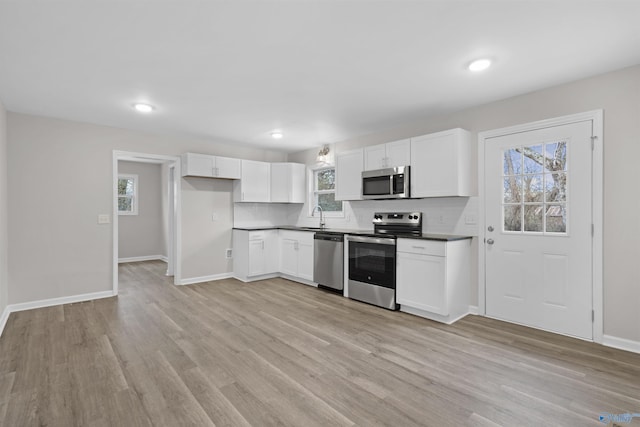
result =
M161 165L119 161L118 173L138 176L138 215L118 217L118 258L166 257Z

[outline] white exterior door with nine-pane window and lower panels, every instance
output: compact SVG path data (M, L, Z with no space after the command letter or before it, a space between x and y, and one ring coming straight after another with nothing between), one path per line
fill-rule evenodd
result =
M490 317L593 338L592 121L485 140Z

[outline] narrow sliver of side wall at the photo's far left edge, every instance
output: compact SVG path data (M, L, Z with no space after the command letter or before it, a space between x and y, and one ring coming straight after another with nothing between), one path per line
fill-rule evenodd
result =
M0 102L0 316L9 301L7 176L7 112Z

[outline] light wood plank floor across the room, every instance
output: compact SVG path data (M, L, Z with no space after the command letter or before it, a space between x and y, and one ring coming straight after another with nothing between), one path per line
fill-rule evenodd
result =
M11 314L0 424L598 426L640 412L637 354L282 279L175 287L164 269L125 264L117 298Z

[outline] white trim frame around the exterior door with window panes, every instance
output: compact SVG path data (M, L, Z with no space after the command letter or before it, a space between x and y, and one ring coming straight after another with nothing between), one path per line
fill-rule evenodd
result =
M528 132L553 126L561 126L576 122L593 121L593 164L591 176L592 188L592 212L593 239L592 239L592 277L593 277L593 341L602 344L604 335L604 308L603 308L603 110L587 111L585 113L571 114L553 119L540 120L522 125L494 129L478 134L478 209L479 227L478 244L478 314L486 315L486 265L485 265L485 240L487 233L485 215L485 141L489 138L511 135L514 133Z

